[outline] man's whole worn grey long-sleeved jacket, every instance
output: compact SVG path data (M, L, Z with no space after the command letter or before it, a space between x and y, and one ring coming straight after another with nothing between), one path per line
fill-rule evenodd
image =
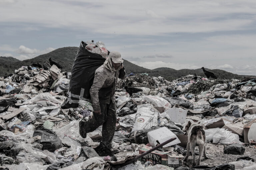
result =
M121 67L121 66L120 66ZM110 58L107 58L102 66L96 69L93 85L90 89L93 110L100 110L100 103L115 103L115 86L117 79L124 79L124 68L112 67Z

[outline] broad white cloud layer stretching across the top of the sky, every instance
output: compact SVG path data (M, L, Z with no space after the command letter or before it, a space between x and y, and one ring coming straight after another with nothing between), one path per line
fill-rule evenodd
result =
M151 9L152 6L154 9ZM159 3L154 0L147 3L135 0L96 0L89 3L78 0L28 0L17 1L10 8L0 6L2 13L8 13L0 18L0 22L32 23L47 28L86 29L103 34L117 32L126 35L163 35L174 32L241 30L255 21L252 17L256 14L255 8L255 1L244 3L233 0L194 0L185 3ZM45 9L48 9L47 12ZM249 15L236 16L243 13Z

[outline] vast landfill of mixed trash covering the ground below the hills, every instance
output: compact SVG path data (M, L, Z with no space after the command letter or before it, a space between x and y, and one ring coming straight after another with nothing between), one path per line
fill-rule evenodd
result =
M87 43L88 44L88 43ZM104 44L104 43L103 43ZM106 53L103 44L94 49ZM62 109L71 73L23 66L0 78L1 169L255 169L256 80L210 80L188 75L169 82L162 77L130 74L118 80L117 124L110 152L99 156L101 127L82 138L79 121L90 119L92 107ZM130 97L124 86L142 91ZM192 167L183 162L188 121L205 127L206 152ZM134 163L122 163L176 137ZM195 151L198 155L198 149ZM207 165L207 166L206 166Z

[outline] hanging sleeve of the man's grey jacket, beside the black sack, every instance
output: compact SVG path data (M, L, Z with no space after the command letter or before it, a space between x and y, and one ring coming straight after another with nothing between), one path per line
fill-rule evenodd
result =
M95 72L94 80L92 87L90 89L90 95L92 100L92 107L93 110L100 110L100 103L99 103L99 90L102 88L106 76L102 72Z

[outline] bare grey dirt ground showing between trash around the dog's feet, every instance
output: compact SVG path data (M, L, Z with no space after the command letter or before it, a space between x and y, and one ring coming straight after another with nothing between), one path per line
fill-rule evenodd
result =
M202 157L201 164L200 165L206 165L206 166L217 166L221 164L225 164L228 162L236 161L238 157L245 157L249 156L256 160L256 146L250 145L245 146L245 152L243 155L233 155L233 154L224 154L224 146L222 144L212 144L212 143L206 143L206 153L211 159L204 159ZM198 148L196 149L198 150ZM115 154L117 159L123 159L127 154L133 154L132 151L126 151L126 152L119 152ZM196 161L197 161L198 155L196 155ZM184 167L193 167L192 166L192 156L190 155L188 157L187 162L183 162Z

